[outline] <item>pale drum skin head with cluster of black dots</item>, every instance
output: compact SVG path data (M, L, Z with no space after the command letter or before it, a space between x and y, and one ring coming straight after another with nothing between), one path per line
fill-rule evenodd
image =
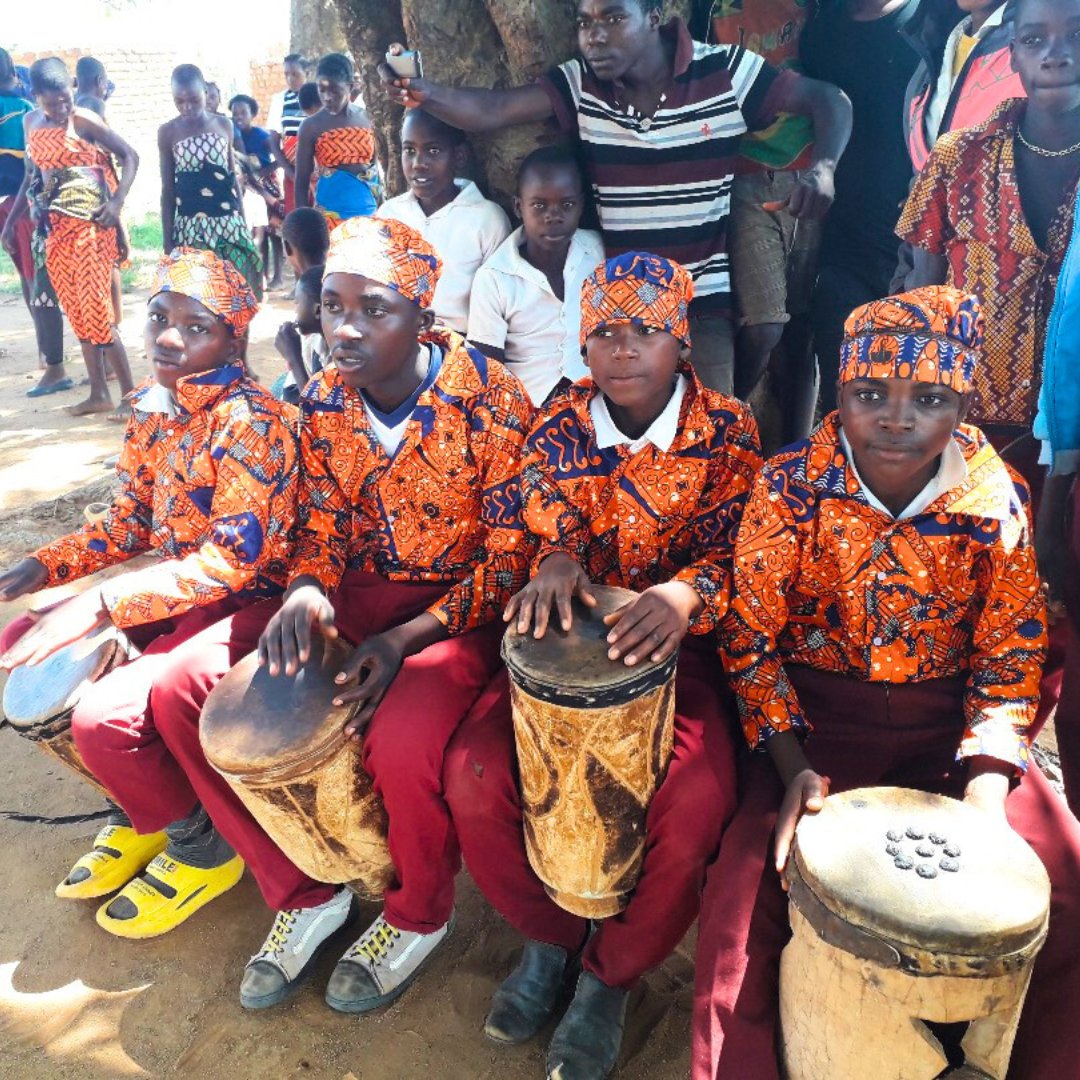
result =
M800 820L794 858L826 908L902 946L997 955L1043 932L1042 863L1007 825L957 799L904 787L831 795Z

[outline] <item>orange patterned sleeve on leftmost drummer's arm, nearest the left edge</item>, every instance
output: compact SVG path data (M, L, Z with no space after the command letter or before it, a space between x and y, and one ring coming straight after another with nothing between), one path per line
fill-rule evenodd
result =
M144 461L139 430L133 415L117 464L118 490L105 517L33 553L49 571L46 586L84 578L150 550L153 474Z

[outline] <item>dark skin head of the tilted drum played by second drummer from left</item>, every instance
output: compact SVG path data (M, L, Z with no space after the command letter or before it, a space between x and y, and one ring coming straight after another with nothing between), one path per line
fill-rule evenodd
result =
M244 657L203 705L199 735L210 762L245 777L333 754L355 711L332 704L342 689L334 676L351 652L340 638L313 634L311 657L296 675L271 675L257 652Z

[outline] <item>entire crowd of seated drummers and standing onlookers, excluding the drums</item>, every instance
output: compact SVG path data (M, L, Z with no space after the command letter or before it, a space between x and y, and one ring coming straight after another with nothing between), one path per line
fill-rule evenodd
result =
M525 943L490 1039L535 1038L568 998L548 1076L603 1080L630 989L699 919L694 1080L779 1080L796 824L894 784L1041 858L1010 1077L1075 1072L1080 0L818 6L717 0L705 41L652 0L578 0L579 55L509 89L381 65L405 107L389 199L348 57L313 84L286 57L269 131L181 65L134 391L112 287L138 162L86 104L105 72L72 85L45 58L21 89L0 54L2 241L50 366L31 393L67 379L62 311L87 407L111 409L109 366L129 414L108 513L0 575L0 600L163 556L0 635L9 670L108 623L140 650L75 708L113 814L58 895L110 897L99 926L141 939L246 866L276 914L241 1002L295 993L351 895L275 843L200 716L244 656L289 679L340 636L394 875L332 1008L407 989L463 861ZM468 135L540 121L564 137L519 163L513 228L462 178ZM247 330L286 261L271 393ZM766 458L746 400L770 369ZM596 585L637 594L608 617L612 664L679 658L640 877L591 926L527 856L499 645L569 630ZM1055 707L1068 801L1030 753Z

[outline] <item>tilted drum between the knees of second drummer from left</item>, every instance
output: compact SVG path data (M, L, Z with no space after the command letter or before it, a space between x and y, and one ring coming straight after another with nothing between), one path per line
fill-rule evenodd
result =
M244 657L206 699L199 735L210 764L305 874L380 900L394 874L387 815L345 735L356 706L333 704L350 652L316 634L295 676Z

